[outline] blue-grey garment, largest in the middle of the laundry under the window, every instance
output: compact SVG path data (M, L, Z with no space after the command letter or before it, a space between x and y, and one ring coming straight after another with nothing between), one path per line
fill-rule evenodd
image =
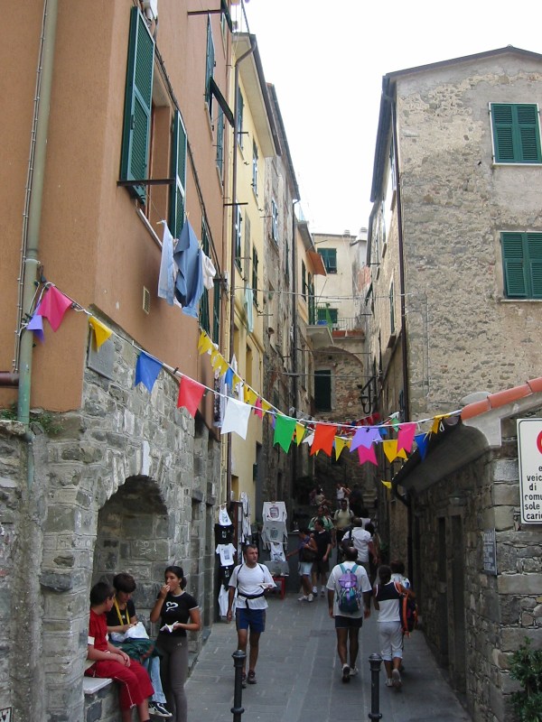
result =
M198 302L203 293L201 248L190 221L186 220L181 236L173 251L173 260L179 266L175 279L175 298L182 305L182 313L198 318Z

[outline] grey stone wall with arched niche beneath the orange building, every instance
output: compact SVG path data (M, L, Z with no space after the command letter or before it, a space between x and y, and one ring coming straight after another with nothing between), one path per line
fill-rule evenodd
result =
M21 535L0 579L0 611L5 615L11 605L14 631L6 674L16 718L83 719L89 588L104 573L135 574L145 616L164 567L181 563L205 624L214 618L220 444L202 424L196 433L192 418L176 408L172 376L162 371L152 393L135 388L135 347L117 336L107 343L113 344L112 378L85 370L81 409L59 414L61 430L54 435L35 437L28 483L26 445L2 440L8 450L0 521L6 541ZM4 504L5 519L19 523L19 531L4 523ZM6 550L4 537L0 543ZM200 645L201 634L193 635L192 652ZM0 663L0 684L5 670Z

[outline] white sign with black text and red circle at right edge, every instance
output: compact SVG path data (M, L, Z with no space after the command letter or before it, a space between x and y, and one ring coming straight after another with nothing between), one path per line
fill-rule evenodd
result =
M521 523L542 524L542 419L518 420Z

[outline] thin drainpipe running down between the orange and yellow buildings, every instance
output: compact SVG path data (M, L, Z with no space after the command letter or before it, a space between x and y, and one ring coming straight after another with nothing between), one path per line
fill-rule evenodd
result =
M237 163L238 163L238 112L239 112L239 63L248 58L256 50L256 35L250 35L250 48L235 63L233 93L233 163L231 169L231 255L229 264L229 362L233 359L233 337L235 333L235 221L237 218ZM228 434L226 457L226 496L227 504L231 501L231 432Z

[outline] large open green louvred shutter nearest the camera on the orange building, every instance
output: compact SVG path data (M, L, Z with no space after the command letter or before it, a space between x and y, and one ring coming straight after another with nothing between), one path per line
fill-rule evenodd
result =
M144 180L148 177L153 71L154 40L144 16L133 7L128 41L121 180ZM145 203L145 186L128 186L128 190Z

